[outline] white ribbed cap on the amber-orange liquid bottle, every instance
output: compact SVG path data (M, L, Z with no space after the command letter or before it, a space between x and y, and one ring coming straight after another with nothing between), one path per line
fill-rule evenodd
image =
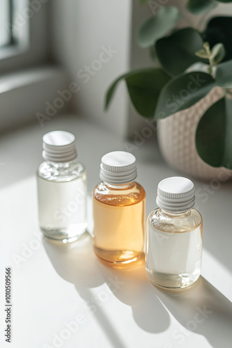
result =
M101 158L101 180L108 184L127 184L137 177L136 159L130 152L108 152Z

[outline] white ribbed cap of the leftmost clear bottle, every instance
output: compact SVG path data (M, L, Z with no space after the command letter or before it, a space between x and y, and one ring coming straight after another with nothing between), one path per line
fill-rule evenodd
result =
M66 131L52 131L42 137L42 157L46 161L68 162L76 158L74 134Z

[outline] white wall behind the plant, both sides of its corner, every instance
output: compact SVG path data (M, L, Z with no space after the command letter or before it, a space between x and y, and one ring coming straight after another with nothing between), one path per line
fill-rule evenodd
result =
M184 9L186 2L169 0L166 4L178 6L185 15L180 26L197 27L201 15L190 15ZM152 11L149 3L141 6L138 0L51 0L50 4L51 54L63 64L69 79L77 81L81 88L73 98L74 111L119 136L133 137L133 132L140 131L145 122L131 106L124 84L117 89L108 112L103 111L103 102L106 89L115 77L131 69L154 66L149 50L140 49L136 40L138 27L153 15L154 8ZM222 3L206 19L232 13L231 9L230 4ZM83 75L85 66L96 63L101 47L108 45L117 53L98 71L93 71L92 76L89 74L89 78Z

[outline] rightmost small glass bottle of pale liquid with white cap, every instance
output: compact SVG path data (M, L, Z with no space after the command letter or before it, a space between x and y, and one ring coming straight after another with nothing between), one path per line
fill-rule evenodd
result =
M147 218L147 276L160 287L188 287L201 273L202 218L193 208L194 184L167 177L157 195L159 208Z

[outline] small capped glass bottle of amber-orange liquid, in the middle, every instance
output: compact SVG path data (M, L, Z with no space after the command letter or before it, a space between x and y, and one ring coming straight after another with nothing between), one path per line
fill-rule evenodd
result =
M93 191L94 251L112 267L144 255L145 191L135 182L136 159L113 151L101 159L103 180Z

